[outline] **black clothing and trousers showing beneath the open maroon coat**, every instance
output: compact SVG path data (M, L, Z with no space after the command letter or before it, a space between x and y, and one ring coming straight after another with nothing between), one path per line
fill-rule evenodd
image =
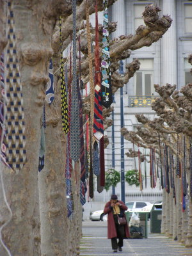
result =
M119 225L116 214L113 215L115 221L116 235L117 237L111 238L112 249L116 250L118 247L123 247L125 237L125 225ZM118 242L117 242L118 239Z

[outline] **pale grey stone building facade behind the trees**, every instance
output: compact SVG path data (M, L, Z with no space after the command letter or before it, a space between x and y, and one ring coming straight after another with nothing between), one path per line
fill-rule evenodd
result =
M134 31L143 23L142 12L147 4L154 4L161 8L160 17L170 15L173 19L172 26L163 35L158 42L150 47L143 47L131 52L129 59L124 61L124 67L134 58L140 60L140 70L134 74L124 86L124 126L129 131L140 125L135 114L143 113L151 120L155 113L150 108L153 97L156 97L154 84L165 85L166 83L177 84L180 89L185 84L192 81L190 74L191 65L188 63L188 55L192 52L192 1L184 0L159 0L159 1L134 1L118 0L109 8L109 19L118 22L116 31L112 38L120 35L134 35ZM101 21L100 21L101 23ZM115 170L121 172L121 138L120 138L120 90L115 93L114 111L114 130L115 130ZM112 127L105 131L109 138L108 148L105 150L106 170L112 168ZM124 141L124 151L133 149L129 141ZM135 148L137 150L137 148ZM140 148L144 152L143 148ZM138 159L136 159L136 165ZM135 168L134 159L124 157L125 172ZM136 166L137 167L137 166ZM143 170L143 165L141 164ZM125 182L125 201L128 200L147 200L155 202L161 200L162 190L157 179L155 189L150 188L149 164L147 165L147 188L143 184L143 191L135 186L128 186ZM93 201L106 201L109 199L112 191L106 191L101 194L95 191ZM121 186L118 184L116 193L121 198Z

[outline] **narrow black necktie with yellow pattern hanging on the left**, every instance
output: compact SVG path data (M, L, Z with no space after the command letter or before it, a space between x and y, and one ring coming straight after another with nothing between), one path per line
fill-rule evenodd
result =
M67 106L67 90L65 86L65 72L63 65L63 51L62 51L62 35L61 35L61 17L60 17L60 81L61 81L61 117L62 117L62 128L63 132L68 132L68 106Z

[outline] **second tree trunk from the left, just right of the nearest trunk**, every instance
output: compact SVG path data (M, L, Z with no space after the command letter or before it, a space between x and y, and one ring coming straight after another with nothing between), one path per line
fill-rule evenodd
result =
M47 108L54 106L47 104ZM54 120L58 116L55 114ZM45 128L45 166L38 174L42 256L67 255L65 150L61 143L65 134L61 132L61 125L54 122Z

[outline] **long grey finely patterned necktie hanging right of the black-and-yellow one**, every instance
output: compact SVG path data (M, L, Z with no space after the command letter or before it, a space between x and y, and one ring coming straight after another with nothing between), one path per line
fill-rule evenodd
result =
M81 154L80 141L80 120L79 120L79 100L77 92L77 67L76 67L76 0L72 1L73 12L73 81L72 81L72 106L71 106L71 120L70 120L70 157L75 162L78 161Z

